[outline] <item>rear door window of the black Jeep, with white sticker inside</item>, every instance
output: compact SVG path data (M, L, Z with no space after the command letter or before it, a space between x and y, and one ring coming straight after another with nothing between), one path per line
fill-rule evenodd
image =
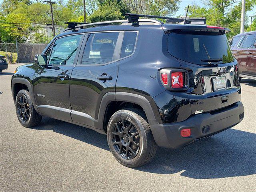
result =
M119 32L89 34L81 64L93 65L112 62L118 35Z

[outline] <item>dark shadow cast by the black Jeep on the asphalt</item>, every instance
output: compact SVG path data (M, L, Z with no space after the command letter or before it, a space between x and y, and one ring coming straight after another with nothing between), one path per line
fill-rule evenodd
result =
M106 135L88 128L44 117L34 129L52 130L109 151ZM231 128L182 149L158 148L151 162L135 169L209 179L256 174L255 162L256 134Z

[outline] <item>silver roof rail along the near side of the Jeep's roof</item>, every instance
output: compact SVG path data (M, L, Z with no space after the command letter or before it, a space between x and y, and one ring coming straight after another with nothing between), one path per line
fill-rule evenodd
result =
M148 22L148 23L153 23L153 24L162 24L162 22L158 21L158 20L154 20L154 19L139 19L139 22ZM114 20L114 21L102 21L102 22L95 22L95 23L76 23L76 22L66 22L65 24L74 24L72 26L72 28L69 27L66 28L64 31L70 30L70 29L77 29L77 28L84 28L86 26L104 26L104 25L110 25L112 23L131 23L129 20Z

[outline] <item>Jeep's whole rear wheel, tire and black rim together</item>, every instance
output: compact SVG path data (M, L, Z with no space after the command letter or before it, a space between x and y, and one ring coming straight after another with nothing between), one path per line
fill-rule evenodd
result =
M119 110L112 115L107 139L113 156L126 167L142 166L156 154L156 143L146 117L136 108Z

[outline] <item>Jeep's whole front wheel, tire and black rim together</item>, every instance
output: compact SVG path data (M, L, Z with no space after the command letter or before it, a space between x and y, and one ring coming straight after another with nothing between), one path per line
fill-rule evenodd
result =
M39 115L32 103L30 93L27 90L20 90L16 96L15 108L18 120L24 127L38 125L42 116Z

